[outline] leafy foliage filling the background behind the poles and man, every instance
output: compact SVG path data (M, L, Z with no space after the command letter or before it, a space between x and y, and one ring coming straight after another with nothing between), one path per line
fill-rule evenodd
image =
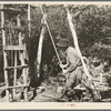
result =
M24 21L22 26L28 23L27 8L28 7L26 4L21 8L21 19ZM103 44L99 43L99 41L107 37L111 37L111 6L75 4L69 6L69 8L73 17L73 23L79 38L82 54L87 57L99 57L102 59L110 58L110 49L103 47ZM43 10L48 14L47 21L54 42L58 42L57 36L60 34L61 38L68 38L70 42L73 43L64 6L46 4L43 6ZM34 56L34 58L31 58L32 61L36 60L38 51L38 41L42 28L41 18L42 14L40 8L31 7L30 56ZM46 30L42 62L50 62L53 56L56 56L56 53L48 30Z

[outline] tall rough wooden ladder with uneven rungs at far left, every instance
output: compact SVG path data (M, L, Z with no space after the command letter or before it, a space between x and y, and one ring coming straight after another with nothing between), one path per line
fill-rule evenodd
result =
M8 24L6 24L6 16L8 16L9 18ZM16 18L16 20L13 20L13 17ZM28 102L28 65L24 61L26 48L22 42L22 30L23 28L21 27L20 11L16 8L4 8L4 6L1 4L3 70L6 95L8 102L10 102L10 92L13 99L16 99L18 88L21 88L23 90L24 101ZM8 59L9 57L10 61ZM20 73L20 77L22 77L22 83L19 84L17 83L18 73ZM10 81L12 83L10 83Z

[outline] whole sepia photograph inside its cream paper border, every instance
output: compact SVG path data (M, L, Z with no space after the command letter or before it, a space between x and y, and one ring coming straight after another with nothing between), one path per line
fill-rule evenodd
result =
M0 2L0 102L110 103L111 3Z

